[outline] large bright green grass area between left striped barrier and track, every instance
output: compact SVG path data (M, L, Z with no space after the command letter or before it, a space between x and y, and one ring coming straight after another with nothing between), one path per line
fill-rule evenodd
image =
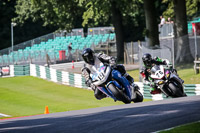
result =
M111 98L96 100L93 91L31 76L0 78L0 113L12 117L120 105ZM0 118L2 119L2 118Z

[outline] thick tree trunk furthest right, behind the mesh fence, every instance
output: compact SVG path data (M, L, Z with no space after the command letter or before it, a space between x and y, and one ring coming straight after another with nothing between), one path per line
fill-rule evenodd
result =
M173 0L176 28L176 62L191 62L193 57L190 52L185 0Z

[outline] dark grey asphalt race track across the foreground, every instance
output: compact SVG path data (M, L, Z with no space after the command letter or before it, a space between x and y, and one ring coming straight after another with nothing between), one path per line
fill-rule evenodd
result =
M150 133L200 120L200 96L0 120L11 133Z

